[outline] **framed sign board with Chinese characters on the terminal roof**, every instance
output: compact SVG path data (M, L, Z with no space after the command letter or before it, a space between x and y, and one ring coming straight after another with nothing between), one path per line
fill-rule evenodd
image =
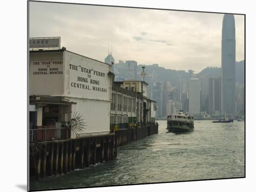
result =
M61 37L29 38L29 49L60 49Z

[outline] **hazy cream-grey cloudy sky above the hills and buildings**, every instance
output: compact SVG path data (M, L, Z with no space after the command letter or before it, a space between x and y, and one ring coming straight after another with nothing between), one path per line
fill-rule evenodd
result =
M135 60L200 72L221 67L223 14L30 2L30 37L61 37L61 46L104 62ZM244 16L235 15L236 61L244 59Z

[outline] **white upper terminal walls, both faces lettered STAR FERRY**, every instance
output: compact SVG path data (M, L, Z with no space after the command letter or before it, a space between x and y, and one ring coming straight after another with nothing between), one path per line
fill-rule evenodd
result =
M110 65L70 51L29 54L31 95L110 101Z

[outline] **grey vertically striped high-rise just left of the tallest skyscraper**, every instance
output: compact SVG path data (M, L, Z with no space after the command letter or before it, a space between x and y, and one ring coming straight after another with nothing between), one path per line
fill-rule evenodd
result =
M209 78L209 97L208 97L208 109L209 115L219 115L221 113L221 96L222 96L222 84L221 77Z

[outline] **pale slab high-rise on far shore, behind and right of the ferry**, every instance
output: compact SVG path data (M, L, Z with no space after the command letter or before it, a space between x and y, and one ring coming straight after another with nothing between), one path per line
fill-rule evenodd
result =
M191 78L189 81L189 113L200 112L200 81Z

